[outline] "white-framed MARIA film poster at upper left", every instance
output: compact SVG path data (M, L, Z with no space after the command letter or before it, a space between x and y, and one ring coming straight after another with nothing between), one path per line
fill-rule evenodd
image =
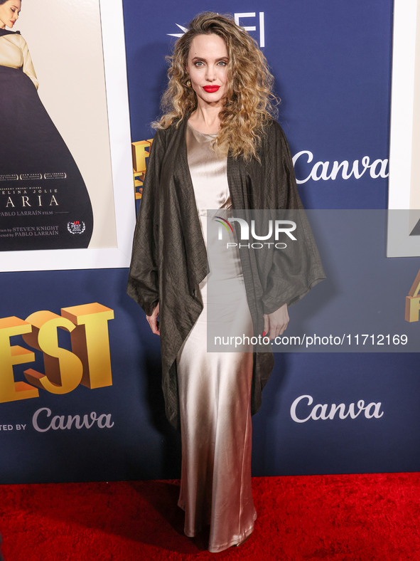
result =
M13 28L6 27L1 33L2 261L12 252L12 261L22 262L24 251L60 250L67 251L68 258L64 253L59 261L69 264L54 268L79 268L71 263L75 253L70 254L69 249L119 248L116 201L121 201L122 194L112 161L107 99L107 80L112 76L106 76L104 61L105 8L99 0L24 2ZM124 51L122 16L119 26L116 17L119 11L121 3L115 2L112 41L122 40ZM123 61L125 67L124 52ZM126 110L122 119L126 125L126 177L130 178L128 103L126 88L120 86L119 105ZM132 179L129 182L124 189L129 189L133 199ZM134 202L126 209L132 226L130 214L134 215ZM98 261L100 255L100 251L95 254L95 266L121 266L121 262ZM42 261L38 253L36 261L39 258ZM89 263L89 258L77 262ZM81 264L85 266L92 265ZM11 266L3 270L30 269Z

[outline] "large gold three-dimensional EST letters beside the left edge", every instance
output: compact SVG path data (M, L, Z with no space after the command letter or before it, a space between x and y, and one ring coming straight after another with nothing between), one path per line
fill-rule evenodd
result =
M111 308L92 303L63 308L61 315L43 310L26 321L0 319L0 403L38 397L37 388L66 394L79 384L90 389L111 386L108 321L113 318ZM58 345L58 328L70 332L71 352ZM33 362L35 354L11 345L14 335L22 335L27 345L43 353L45 373L24 371L30 384L15 382L13 366Z

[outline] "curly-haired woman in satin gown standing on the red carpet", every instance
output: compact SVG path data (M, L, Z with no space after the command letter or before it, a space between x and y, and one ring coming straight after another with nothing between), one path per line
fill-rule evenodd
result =
M208 209L218 209L216 218L234 209L301 209L289 147L271 117L273 78L252 38L230 17L200 14L177 41L168 75L128 293L161 335L166 414L181 428L185 534L210 524L209 550L218 552L254 529L250 416L273 357L249 345L207 352L208 317L273 339L287 327L287 306L324 275L305 225L294 262L279 251L212 251ZM233 229L231 236L235 243ZM214 302L215 293L230 305Z

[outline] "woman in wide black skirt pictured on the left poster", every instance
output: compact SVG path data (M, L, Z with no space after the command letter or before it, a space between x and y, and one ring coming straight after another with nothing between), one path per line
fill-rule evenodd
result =
M28 46L13 28L21 0L0 0L0 251L83 248L89 194L38 97Z

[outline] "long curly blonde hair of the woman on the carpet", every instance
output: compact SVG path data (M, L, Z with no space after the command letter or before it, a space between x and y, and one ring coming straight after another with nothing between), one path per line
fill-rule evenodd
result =
M272 93L273 75L266 58L247 31L237 26L232 16L204 12L188 25L188 31L175 43L172 56L166 59L168 88L161 100L163 116L152 123L156 129L166 129L173 122L179 125L183 117L197 107L195 91L188 87L188 53L197 35L215 33L227 46L228 88L225 107L220 111L220 132L214 149L232 157L259 159L257 148L264 135L264 126L276 117L279 98Z

